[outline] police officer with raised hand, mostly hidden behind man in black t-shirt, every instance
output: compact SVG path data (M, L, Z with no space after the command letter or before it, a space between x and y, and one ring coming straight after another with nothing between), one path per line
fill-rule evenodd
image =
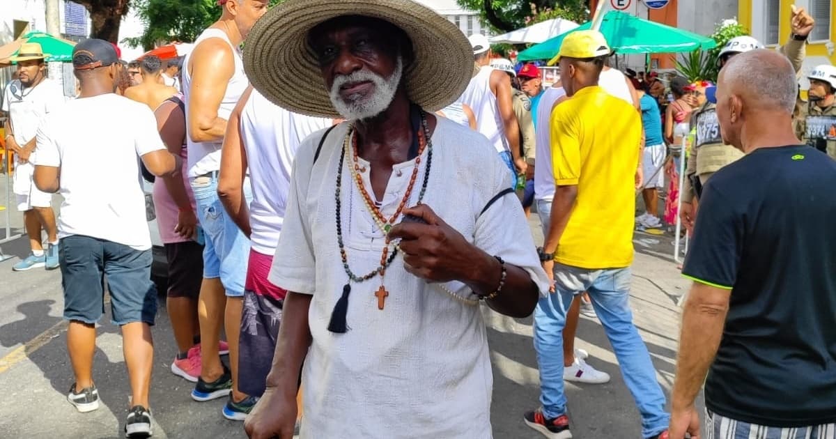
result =
M793 7L792 29L793 35L788 43L782 46L781 52L787 56L798 73L801 71L806 54L807 35L813 30L813 18L810 18L803 8ZM725 65L726 61L734 55L757 48L763 48L763 44L755 38L749 36L732 38L720 51L720 66ZM720 124L717 121L716 104L710 100L691 116L691 126L696 128L696 136L687 160L685 183L680 192L682 205L679 212L682 223L688 230L694 227L696 200L700 197L702 185L706 184L708 178L721 167L743 156L743 153L736 148L723 145Z

